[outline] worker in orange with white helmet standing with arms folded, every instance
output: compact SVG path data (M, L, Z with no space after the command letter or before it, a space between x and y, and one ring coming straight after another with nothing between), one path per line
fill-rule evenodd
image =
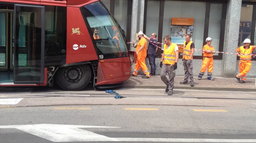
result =
M214 80L212 78L212 71L213 71L213 54L215 54L216 52L215 49L212 47L212 38L208 37L206 38L205 42L207 44L204 45L203 50L207 50L204 51L203 53L203 64L202 64L202 68L199 72L198 75L198 80L201 80L202 77L204 76L204 72L206 70L206 68L208 68L208 73L207 73L207 79L208 80Z

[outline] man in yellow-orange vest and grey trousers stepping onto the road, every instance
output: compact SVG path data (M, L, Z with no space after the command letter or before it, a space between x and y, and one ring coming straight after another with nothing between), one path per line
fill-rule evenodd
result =
M167 85L165 92L168 92L168 95L173 94L175 70L177 69L177 62L179 59L178 46L172 43L171 40L172 38L169 35L164 37L165 45L160 62L160 67L162 68L161 79L165 85ZM167 73L169 75L169 80L166 78Z

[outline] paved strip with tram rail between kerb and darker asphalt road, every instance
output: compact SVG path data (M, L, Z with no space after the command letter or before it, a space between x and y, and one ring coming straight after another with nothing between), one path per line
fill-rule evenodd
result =
M256 107L255 92L174 89L174 94L168 96L167 93L165 93L165 89L121 88L114 91L127 98L115 99L115 95L107 94L105 91L95 91L92 89L85 89L83 91L63 91L46 87L4 88L0 92L0 98L19 96L14 94L43 94L44 98L40 98L38 95L32 95L36 96L36 98L0 99L0 108L41 105L186 105ZM45 97L46 94L62 96ZM81 97L80 95L85 96ZM26 97L27 96L31 95L26 95ZM229 99L216 99L211 97ZM238 100L230 98L247 99ZM255 99L249 100L248 98Z

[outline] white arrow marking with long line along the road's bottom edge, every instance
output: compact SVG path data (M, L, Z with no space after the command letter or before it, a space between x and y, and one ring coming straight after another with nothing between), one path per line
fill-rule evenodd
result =
M133 142L227 142L236 143L256 142L256 139L204 139L204 138L109 138L91 131L79 128L120 128L107 126L84 126L84 125L59 125L59 124L35 124L35 125L4 125L0 128L17 128L32 135L53 142L71 141L133 141Z

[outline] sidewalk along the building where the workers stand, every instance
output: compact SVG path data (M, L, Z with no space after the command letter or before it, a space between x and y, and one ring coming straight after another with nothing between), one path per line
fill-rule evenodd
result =
M166 88L166 85L160 78L160 75L152 76L148 79L141 78L142 75L131 77L124 82L123 88ZM167 76L168 78L168 76ZM256 91L255 78L246 78L246 83L239 83L236 78L222 78L213 77L215 80L207 80L203 77L201 80L194 76L195 86L191 87L190 84L182 85L184 76L176 76L174 78L174 89L195 89L195 90L215 90L215 91Z

